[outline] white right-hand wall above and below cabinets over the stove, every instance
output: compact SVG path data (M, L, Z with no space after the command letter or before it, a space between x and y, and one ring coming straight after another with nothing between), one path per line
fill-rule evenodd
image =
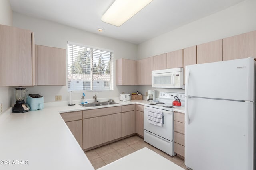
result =
M138 45L138 59L256 30L256 0L247 0ZM150 86L140 86L145 94ZM177 89L155 89L182 92Z

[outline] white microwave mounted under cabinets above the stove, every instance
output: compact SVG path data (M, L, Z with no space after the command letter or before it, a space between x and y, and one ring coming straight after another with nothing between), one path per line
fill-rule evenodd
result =
M152 71L152 88L183 88L183 68Z

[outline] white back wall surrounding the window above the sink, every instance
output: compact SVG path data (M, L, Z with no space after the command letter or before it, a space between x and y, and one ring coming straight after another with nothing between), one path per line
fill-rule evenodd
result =
M67 48L67 41L110 49L114 51L114 60L119 58L137 59L137 45L102 35L89 33L73 27L68 27L51 21L46 21L18 13L13 13L13 26L29 29L34 32L35 43L50 47ZM132 93L136 86L115 85L114 62L114 91L86 92L86 99L92 99L98 93L98 98L118 97L121 92ZM44 102L55 101L55 95L62 95L62 100L69 100L68 83L66 86L34 86L28 87L29 93L38 93L44 96ZM74 100L80 99L82 92L73 93Z

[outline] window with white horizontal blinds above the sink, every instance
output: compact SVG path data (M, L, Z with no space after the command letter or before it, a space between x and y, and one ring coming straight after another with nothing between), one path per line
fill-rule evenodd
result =
M68 90L113 90L113 52L68 42Z

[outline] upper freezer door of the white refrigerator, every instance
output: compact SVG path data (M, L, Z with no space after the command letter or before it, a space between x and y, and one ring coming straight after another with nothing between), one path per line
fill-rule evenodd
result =
M255 63L250 57L186 66L185 91L189 96L253 101Z

